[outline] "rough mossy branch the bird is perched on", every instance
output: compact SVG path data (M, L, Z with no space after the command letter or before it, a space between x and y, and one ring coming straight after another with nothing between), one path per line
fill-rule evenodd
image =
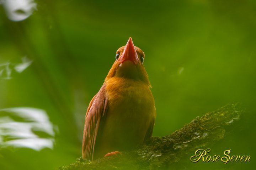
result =
M79 158L75 163L59 170L91 169L163 169L180 162L198 148L209 148L231 132L240 120L239 104L228 104L192 120L180 130L164 137L151 137L145 144L122 156L97 159L93 162Z

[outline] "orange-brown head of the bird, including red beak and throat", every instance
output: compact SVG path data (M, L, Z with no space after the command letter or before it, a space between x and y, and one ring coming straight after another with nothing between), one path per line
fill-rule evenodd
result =
M144 60L144 52L139 47L135 47L132 38L129 38L126 46L117 50L116 61L108 72L105 81L112 77L123 77L139 80L150 86L148 74L143 66Z

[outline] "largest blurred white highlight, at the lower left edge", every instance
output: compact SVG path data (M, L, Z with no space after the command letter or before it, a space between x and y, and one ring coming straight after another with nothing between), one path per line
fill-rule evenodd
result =
M21 121L15 121L18 118ZM30 107L0 109L0 148L53 149L55 132L46 111ZM38 130L47 138L34 134ZM4 140L5 139L5 140Z

